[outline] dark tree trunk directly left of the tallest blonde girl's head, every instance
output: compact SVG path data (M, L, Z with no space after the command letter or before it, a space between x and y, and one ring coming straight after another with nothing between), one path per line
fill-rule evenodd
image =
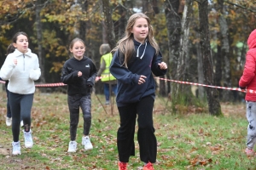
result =
M102 0L102 9L104 13L104 22L106 26L106 31L107 31L107 39L108 39L108 44L110 48L115 47L115 39L114 39L114 33L113 33L113 20L112 20L112 12L111 8L109 6L109 1L108 0Z

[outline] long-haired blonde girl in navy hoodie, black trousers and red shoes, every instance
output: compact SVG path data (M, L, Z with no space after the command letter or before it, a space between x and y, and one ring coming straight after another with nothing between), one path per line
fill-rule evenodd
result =
M147 15L132 14L125 28L125 37L113 48L110 72L118 80L116 102L120 127L117 133L119 170L126 170L129 157L135 156L134 133L136 118L137 140L143 170L154 169L157 141L154 135L153 106L154 76L166 74L160 49L154 40L153 28Z

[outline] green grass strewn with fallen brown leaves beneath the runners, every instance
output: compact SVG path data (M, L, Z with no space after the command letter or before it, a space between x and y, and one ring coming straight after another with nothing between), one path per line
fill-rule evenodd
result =
M84 151L82 115L77 142L79 150L67 153L69 112L67 94L36 93L32 108L32 149L24 147L20 131L21 155L11 155L11 127L5 125L6 98L0 93L0 169L118 169L116 131L119 115L116 105L103 106L102 95L92 94L90 139L94 149ZM167 104L167 105L166 105ZM166 99L156 98L154 127L158 139L156 170L166 169L256 169L255 158L244 154L247 120L245 104L222 104L223 117L209 116L206 108L189 108L187 113L173 115ZM105 109L105 110L104 110ZM137 141L137 135L135 135ZM129 169L141 169L138 144Z

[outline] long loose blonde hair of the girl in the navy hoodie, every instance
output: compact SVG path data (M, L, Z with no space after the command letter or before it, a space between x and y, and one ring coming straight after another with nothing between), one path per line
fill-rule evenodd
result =
M127 63L131 59L132 54L134 53L134 42L133 42L133 34L131 33L131 29L134 26L136 20L140 18L144 18L148 21L148 37L146 37L146 39L148 39L151 46L155 49L155 53L156 54L159 53L159 46L157 42L155 42L154 40L153 27L150 24L150 19L148 18L148 16L143 13L132 14L125 27L125 36L121 38L119 42L117 42L117 46L112 50L113 52L119 50L121 54L125 55L124 63L123 63L125 67L128 67Z

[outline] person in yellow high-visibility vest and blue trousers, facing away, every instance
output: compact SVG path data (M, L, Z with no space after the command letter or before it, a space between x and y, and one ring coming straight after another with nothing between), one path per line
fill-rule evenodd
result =
M109 97L110 97L110 89L112 89L113 94L116 96L117 94L117 81L116 78L110 74L109 65L112 61L112 54L110 53L111 48L108 43L103 43L100 47L100 54L102 55L101 58L101 66L99 71L97 72L96 81L101 78L102 82L104 83L104 94L106 99L106 105L109 105Z

